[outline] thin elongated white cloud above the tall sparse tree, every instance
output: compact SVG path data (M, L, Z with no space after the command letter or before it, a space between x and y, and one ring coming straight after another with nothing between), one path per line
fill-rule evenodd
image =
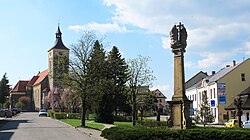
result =
M72 25L69 26L69 29L75 31L95 30L103 34L107 32L120 32L120 33L129 32L125 26L120 26L117 22L106 23L106 24L91 22L85 25Z

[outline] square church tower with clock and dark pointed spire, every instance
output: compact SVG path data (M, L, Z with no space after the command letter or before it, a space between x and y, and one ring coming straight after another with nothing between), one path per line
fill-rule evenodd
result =
M61 79L68 73L69 49L63 44L62 32L58 25L54 47L48 51L49 87L61 87Z

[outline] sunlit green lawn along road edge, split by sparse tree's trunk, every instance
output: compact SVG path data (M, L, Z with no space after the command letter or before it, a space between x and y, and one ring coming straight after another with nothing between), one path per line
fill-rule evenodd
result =
M71 126L74 126L74 127L80 126L79 119L60 119L60 121L66 124L69 124ZM102 130L104 128L104 125L102 123L96 123L94 121L89 121L89 120L86 120L85 123L87 127L90 127L93 129Z

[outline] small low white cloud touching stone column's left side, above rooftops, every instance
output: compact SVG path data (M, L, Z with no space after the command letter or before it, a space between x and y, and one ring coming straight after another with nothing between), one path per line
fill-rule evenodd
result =
M164 85L155 85L150 90L156 90L159 89L166 97L167 99L171 99L173 96L173 87L169 84L164 84Z

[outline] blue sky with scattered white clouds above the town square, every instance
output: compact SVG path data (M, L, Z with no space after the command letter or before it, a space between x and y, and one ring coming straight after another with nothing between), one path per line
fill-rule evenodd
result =
M187 29L187 81L250 57L249 7L249 0L0 0L0 77L7 73L14 87L47 69L60 23L68 48L94 30L107 51L117 46L126 60L149 56L156 77L151 89L171 99L173 25Z

